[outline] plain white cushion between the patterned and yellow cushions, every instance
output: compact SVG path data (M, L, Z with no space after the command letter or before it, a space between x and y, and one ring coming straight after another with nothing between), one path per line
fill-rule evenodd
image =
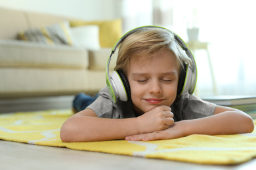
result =
M98 25L72 27L71 30L74 39L77 41L81 48L86 48L88 50L100 49L100 29Z

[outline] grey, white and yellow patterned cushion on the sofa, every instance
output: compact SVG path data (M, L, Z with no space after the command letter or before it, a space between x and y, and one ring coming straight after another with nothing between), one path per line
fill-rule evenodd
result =
M24 41L35 41L44 44L68 44L76 45L70 31L70 23L64 21L46 27L36 27L18 33L18 39Z

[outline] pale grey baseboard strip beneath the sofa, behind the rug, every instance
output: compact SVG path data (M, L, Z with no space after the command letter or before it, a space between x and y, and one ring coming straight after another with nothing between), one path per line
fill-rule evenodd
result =
M0 99L0 113L71 109L74 95Z

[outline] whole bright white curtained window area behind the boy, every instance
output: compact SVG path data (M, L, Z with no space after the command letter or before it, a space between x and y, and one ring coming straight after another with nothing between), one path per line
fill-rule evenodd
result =
M199 41L209 42L217 93L206 52L195 52L197 90L207 95L256 95L256 56L253 0L122 0L123 31L141 25L160 25L188 41L186 28L196 15ZM196 11L196 12L195 12Z

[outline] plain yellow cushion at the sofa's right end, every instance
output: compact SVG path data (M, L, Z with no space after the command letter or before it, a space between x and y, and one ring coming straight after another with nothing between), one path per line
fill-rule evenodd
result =
M98 25L100 27L100 46L113 47L122 35L121 19L85 22L83 20L71 20L70 26Z

